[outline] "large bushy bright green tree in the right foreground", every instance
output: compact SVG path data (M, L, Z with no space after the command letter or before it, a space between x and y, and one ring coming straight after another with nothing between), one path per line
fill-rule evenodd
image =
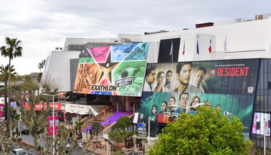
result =
M149 154L250 154L253 144L244 139L240 120L232 117L230 122L221 110L213 110L200 106L197 116L183 113L168 122Z

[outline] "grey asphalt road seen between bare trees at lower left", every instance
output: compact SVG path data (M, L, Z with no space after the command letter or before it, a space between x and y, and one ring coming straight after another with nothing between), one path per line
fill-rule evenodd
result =
M20 136L18 136L18 137L20 137ZM29 133L29 134L21 134L21 138L22 138L22 140L24 141L24 142L27 142L27 143L29 143L29 144L32 144L32 145L34 145L34 139L33 139L33 136L31 135L31 133ZM50 139L51 140L51 139ZM43 137L41 137L40 138L40 142L41 142L41 146L43 147L43 148L45 148L45 141L43 140ZM53 144L50 146L50 152L53 152ZM88 152L88 151L87 151ZM88 152L88 153L90 153L90 152ZM68 153L66 153L66 154L68 154ZM82 154L82 149L80 149L80 148L74 148L73 150L72 150L72 152L71 152L71 154Z

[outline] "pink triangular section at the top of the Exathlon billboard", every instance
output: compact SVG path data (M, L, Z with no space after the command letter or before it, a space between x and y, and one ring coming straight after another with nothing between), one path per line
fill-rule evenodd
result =
M88 51L92 55L93 59L96 62L105 62L107 60L107 56L110 52L111 47L95 47L95 48L88 48Z

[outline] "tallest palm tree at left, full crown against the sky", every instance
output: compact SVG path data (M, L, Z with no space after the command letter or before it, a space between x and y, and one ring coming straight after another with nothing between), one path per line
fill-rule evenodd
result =
M13 58L21 57L22 56L22 51L23 48L21 47L21 40L18 40L17 38L12 38L10 39L9 37L5 38L5 42L7 46L2 46L0 48L1 55L3 57L8 57L9 62L8 62L8 84L10 84L10 78L11 78L11 66L10 62L13 60ZM9 94L9 93L7 93ZM8 98L8 104L10 104L10 98ZM10 106L7 106L7 126L9 126L9 117L10 117ZM8 130L9 131L9 130Z

